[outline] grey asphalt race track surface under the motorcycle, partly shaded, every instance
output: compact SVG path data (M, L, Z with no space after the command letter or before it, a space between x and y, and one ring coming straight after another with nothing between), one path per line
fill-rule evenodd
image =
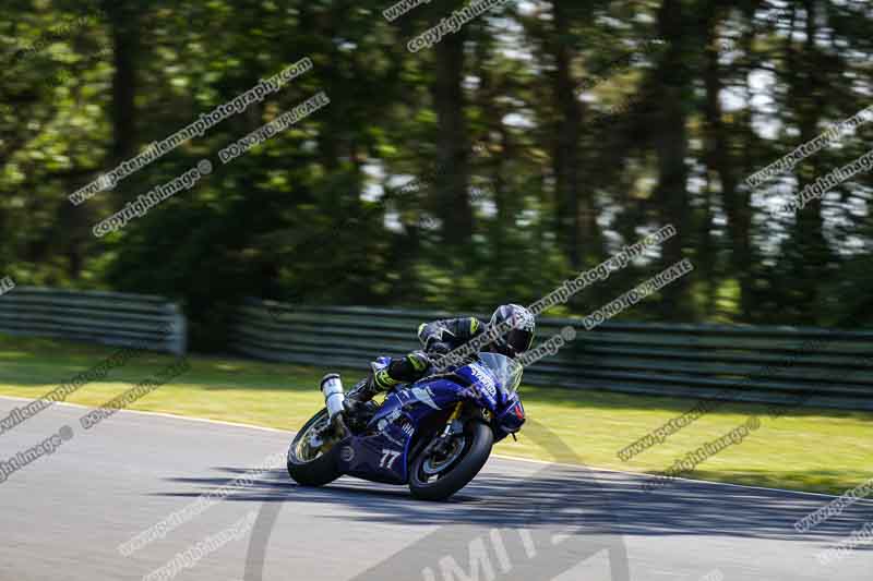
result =
M22 403L0 398L0 413ZM447 504L347 477L303 488L272 470L124 557L119 544L285 452L290 433L131 412L84 431L86 411L57 404L0 435L7 460L73 429L0 484L0 580L143 579L255 513L175 579L873 579L870 545L815 559L873 521L872 504L801 535L793 522L832 497L695 482L644 492L645 476L495 457Z

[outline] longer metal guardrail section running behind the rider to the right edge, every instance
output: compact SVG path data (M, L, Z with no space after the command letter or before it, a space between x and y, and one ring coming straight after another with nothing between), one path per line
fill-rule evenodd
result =
M376 355L419 348L418 325L447 316L455 315L249 299L238 313L232 347L258 359L363 373ZM526 370L525 383L873 410L871 331L627 323L587 331L579 319L540 317L538 341L566 325L576 328L576 339Z

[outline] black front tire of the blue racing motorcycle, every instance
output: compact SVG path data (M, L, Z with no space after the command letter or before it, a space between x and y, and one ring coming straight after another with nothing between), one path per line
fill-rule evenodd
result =
M412 460L409 491L414 497L422 500L445 500L466 486L482 469L494 444L491 427L478 420L471 420L464 426L464 433L456 438L463 438L463 448L456 458L441 460L424 448ZM441 461L445 461L445 465L441 465Z

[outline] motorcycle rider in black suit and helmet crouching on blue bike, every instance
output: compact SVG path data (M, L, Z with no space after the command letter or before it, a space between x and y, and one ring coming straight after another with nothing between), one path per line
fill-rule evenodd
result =
M517 304L499 306L491 315L490 328L505 323L510 330L498 337L483 351L492 351L515 358L530 349L536 323L534 314ZM422 323L418 327L418 340L423 350L412 351L403 358L391 358L387 365L371 363L372 371L345 400L351 415L359 413L378 394L388 391L399 384L409 384L426 377L433 371L434 355L444 355L485 332L485 326L476 317L446 318ZM376 407L378 408L378 407ZM372 406L371 406L372 409Z

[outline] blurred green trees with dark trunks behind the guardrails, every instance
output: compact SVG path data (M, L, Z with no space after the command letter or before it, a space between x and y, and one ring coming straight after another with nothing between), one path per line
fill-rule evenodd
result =
M871 177L798 216L769 207L863 154L873 125L804 161L800 181L786 175L750 195L742 180L869 105L866 9L811 2L820 41L809 45L802 10L789 40L790 19L766 7L507 4L464 27L462 51L447 48L457 38L449 35L410 53L406 43L451 7L388 23L373 1L83 5L0 8L0 275L20 283L172 296L194 344L217 349L247 295L490 311L533 302L674 223L697 266L675 293L682 307L656 296L623 318L864 324L847 314L872 282ZM663 43L653 49L654 39ZM722 51L715 69L713 46ZM314 69L263 102L112 191L67 199L303 57ZM219 149L320 90L330 106L219 161ZM667 131L680 118L684 136ZM214 172L194 189L94 238L99 220L204 158ZM677 159L685 191L673 186ZM473 231L453 231L446 219L467 211ZM665 259L615 273L550 314L585 315Z

